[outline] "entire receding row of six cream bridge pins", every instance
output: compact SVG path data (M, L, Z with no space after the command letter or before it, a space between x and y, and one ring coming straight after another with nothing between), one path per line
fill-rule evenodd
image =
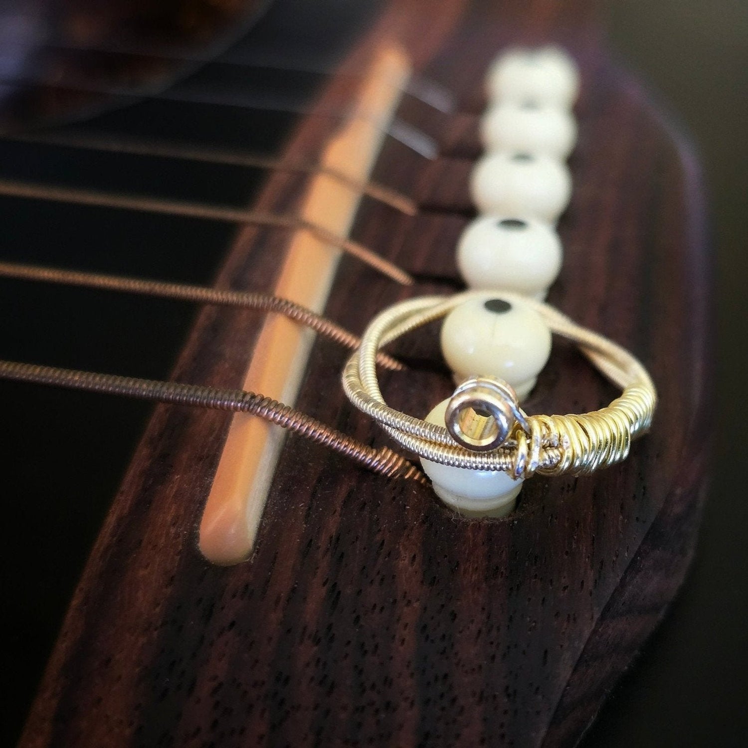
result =
M456 384L497 378L521 401L548 361L551 331L535 310L496 292L543 300L560 272L556 221L571 197L565 159L577 141L579 73L557 47L512 49L488 68L485 91L485 155L470 176L479 215L459 239L457 264L466 285L486 295L445 317L441 349ZM449 403L440 402L426 420L444 426ZM500 517L515 508L522 481L509 473L421 462L435 493L463 515Z

